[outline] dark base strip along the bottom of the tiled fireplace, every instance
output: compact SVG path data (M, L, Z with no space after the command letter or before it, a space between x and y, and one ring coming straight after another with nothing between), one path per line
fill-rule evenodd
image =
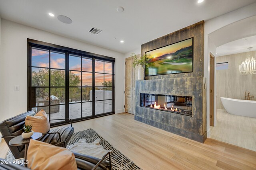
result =
M193 132L184 131L184 130L178 129L176 127L171 127L171 126L164 125L164 124L152 121L152 120L148 120L148 119L145 119L143 117L139 117L137 115L135 115L134 119L136 121L140 121L142 123L157 127L159 129L163 129L165 131L174 133L176 135L180 135L182 137L186 137L188 139L192 139L192 140L200 142L200 143L204 143L204 141L207 139L207 131L205 131L205 133L203 135L199 135L199 134L196 134L196 133L193 133Z

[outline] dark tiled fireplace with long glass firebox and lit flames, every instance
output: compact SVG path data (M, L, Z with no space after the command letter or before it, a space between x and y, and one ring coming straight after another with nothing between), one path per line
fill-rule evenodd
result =
M205 80L190 77L136 81L134 119L203 143L207 136L203 123Z

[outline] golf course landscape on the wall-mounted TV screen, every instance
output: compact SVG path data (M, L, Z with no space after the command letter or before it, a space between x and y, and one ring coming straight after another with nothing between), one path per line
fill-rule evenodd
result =
M145 76L193 71L193 38L146 52L151 59Z

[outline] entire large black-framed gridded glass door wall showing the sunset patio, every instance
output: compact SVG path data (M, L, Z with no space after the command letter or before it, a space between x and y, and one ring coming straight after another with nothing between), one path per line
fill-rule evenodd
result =
M74 121L114 113L114 64L111 57L28 39L28 110Z

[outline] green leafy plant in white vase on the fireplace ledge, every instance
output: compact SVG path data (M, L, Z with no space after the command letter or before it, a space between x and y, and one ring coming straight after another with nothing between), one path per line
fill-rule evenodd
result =
M145 54L138 58L135 53L132 53L131 56L133 57L132 66L134 68L138 66L138 80L144 80L144 66L152 64L150 56Z

